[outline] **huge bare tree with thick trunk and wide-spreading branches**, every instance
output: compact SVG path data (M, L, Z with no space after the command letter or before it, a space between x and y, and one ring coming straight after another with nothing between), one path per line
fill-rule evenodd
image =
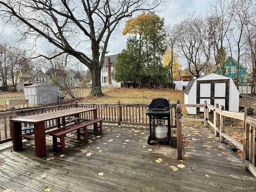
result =
M44 38L56 46L60 52L55 56L67 53L86 65L92 73L91 93L100 96L100 71L114 29L132 14L154 11L166 2L168 0L2 0L0 14L6 22L20 29L24 27L27 38Z

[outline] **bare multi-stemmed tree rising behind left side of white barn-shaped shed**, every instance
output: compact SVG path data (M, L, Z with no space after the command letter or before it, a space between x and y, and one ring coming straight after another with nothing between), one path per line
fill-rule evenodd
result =
M203 16L189 14L177 29L177 44L187 60L188 70L199 77L200 70L210 59L209 26Z

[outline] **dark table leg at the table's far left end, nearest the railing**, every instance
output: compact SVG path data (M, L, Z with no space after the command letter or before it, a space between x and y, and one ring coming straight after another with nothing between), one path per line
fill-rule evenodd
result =
M19 136L21 134L21 123L10 121L10 129L12 130L12 142L13 150L22 150L22 138Z

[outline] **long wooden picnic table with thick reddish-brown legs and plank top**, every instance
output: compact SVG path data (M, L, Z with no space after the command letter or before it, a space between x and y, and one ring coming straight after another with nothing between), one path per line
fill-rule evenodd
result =
M10 119L10 129L13 140L13 150L22 150L22 138L35 140L36 156L42 156L46 154L46 127L45 122L49 120L57 120L57 126L60 128L60 119L62 118L62 126L66 126L65 118L68 116L77 116L84 112L93 112L93 118L97 118L97 108L71 108L67 110L54 111L49 113L24 116L21 118ZM22 123L34 125L34 136L22 134ZM102 126L102 119L101 125ZM94 123L94 130L97 129L97 122ZM101 127L102 132L102 127Z

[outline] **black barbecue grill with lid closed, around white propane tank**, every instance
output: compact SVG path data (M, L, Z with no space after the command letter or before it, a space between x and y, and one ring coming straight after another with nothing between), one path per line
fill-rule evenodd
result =
M156 140L160 142L165 142L172 146L171 139L171 122L170 122L170 100L166 97L155 98L152 100L148 109L146 110L146 115L149 117L150 124L149 130L150 134L148 136L148 144L151 144L151 140ZM167 120L167 136L164 139L156 138L154 133L154 127L157 122L166 122Z

